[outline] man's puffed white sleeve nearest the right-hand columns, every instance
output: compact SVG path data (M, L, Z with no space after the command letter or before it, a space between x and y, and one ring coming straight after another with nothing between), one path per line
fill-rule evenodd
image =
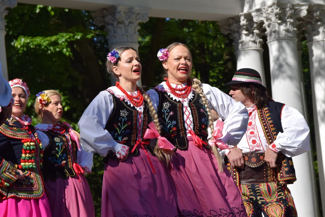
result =
M296 109L284 105L281 112L283 133L269 146L272 151L281 151L288 157L297 156L310 150L309 127L305 118Z

